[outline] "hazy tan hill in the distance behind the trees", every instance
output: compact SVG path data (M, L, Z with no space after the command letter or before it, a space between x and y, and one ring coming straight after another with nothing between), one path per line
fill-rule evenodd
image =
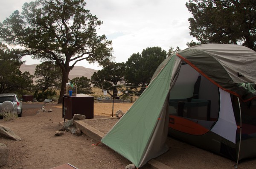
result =
M35 67L39 64L34 65L21 65L20 71L23 73L25 71L28 71L30 74L34 75L35 73ZM69 73L69 79L72 80L75 77L87 77L90 79L90 77L93 75L94 72L97 70L90 69L90 68L84 68L83 66L74 66L74 68Z

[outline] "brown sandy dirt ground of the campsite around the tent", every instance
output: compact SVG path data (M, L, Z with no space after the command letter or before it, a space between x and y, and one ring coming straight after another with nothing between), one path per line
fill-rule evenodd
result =
M33 103L23 103L33 104ZM114 114L117 110L126 112L131 103L115 103ZM65 163L70 163L79 169L125 169L131 164L104 144L87 135L72 135L65 132L62 136L54 133L60 128L62 106L47 103L45 109L52 112L38 112L38 108L23 110L23 117L12 121L0 120L0 124L11 128L21 141L0 138L0 143L9 149L9 159L3 169L50 169ZM112 116L112 103L95 103L94 118ZM106 133L116 121L99 120L90 124ZM232 169L235 162L212 152L198 149L174 138L168 138L169 151L155 160L173 169ZM255 147L253 147L255 148ZM254 169L256 159L242 161L238 169ZM144 166L143 169L147 169Z

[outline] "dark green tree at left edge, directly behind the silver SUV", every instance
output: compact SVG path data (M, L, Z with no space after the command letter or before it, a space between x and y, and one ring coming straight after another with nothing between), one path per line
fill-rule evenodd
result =
M0 43L0 93L22 93L32 87L33 76L20 71L18 51L10 50Z

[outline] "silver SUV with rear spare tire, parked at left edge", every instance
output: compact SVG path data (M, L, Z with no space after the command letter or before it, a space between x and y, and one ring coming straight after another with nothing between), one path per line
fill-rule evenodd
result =
M0 111L17 112L21 117L22 103L18 96L13 93L0 94Z

